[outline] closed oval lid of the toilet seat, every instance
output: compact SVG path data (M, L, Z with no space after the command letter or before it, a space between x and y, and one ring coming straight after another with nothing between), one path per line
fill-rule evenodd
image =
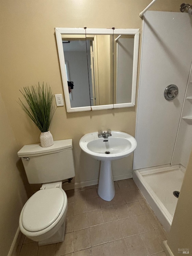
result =
M64 193L61 188L39 190L23 208L22 225L31 232L43 230L58 218L63 206Z

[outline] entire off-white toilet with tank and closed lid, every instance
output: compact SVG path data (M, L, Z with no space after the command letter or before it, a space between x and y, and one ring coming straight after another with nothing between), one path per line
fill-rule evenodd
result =
M54 141L47 148L26 145L17 154L29 183L42 184L23 206L19 217L21 232L40 246L64 241L67 195L62 180L75 176L72 139Z

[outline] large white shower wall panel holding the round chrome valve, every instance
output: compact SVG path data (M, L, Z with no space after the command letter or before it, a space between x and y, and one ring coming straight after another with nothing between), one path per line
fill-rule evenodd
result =
M143 23L135 170L171 164L192 61L187 13L147 11ZM173 101L164 98L170 84L179 88Z

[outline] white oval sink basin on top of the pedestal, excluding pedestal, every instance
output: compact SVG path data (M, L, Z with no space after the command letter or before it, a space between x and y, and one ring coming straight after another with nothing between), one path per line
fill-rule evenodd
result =
M98 160L117 160L130 155L137 146L135 138L125 132L112 131L112 136L99 138L98 132L85 134L79 141L81 149Z

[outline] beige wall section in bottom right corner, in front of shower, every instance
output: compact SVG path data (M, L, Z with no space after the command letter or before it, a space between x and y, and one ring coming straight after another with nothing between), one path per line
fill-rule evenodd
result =
M174 255L179 248L188 248L192 255L192 152L185 172L178 203L176 206L167 245Z

